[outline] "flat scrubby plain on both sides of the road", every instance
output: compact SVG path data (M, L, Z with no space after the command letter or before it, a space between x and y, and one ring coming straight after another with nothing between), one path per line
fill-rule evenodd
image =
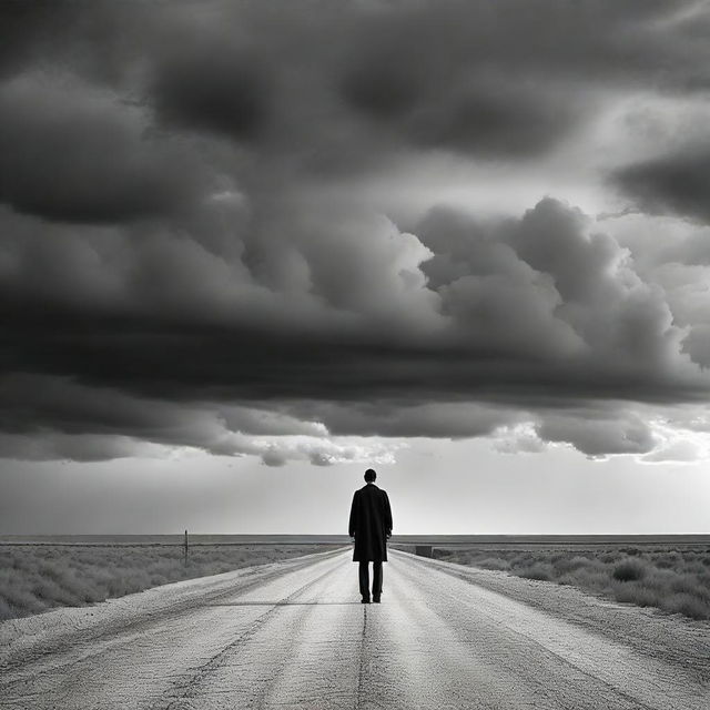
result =
M0 536L0 620L349 545L346 535ZM710 536L399 535L392 546L710 619Z

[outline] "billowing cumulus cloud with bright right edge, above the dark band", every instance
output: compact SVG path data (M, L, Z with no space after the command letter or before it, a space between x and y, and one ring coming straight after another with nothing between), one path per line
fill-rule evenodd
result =
M487 225L435 211L420 233L435 252L423 268L462 336L480 338L494 353L564 361L557 377L568 394L569 366L579 366L572 377L580 386L604 373L660 384L683 369L683 334L662 290L645 282L630 254L579 210L545 199L520 220Z

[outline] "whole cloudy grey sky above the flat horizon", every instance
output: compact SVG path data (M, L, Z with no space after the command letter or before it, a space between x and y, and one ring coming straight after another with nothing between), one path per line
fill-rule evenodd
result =
M0 4L0 534L710 532L709 36Z

